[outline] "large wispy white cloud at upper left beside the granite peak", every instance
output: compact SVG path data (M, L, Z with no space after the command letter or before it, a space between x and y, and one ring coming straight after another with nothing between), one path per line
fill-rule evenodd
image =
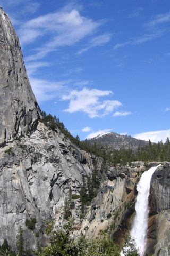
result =
M32 19L20 27L19 38L22 45L33 43L39 37L44 37L46 42L40 44L36 54L27 58L27 61L44 58L49 52L58 47L72 46L84 37L95 33L103 21L93 21L83 17L77 9L60 10ZM47 37L45 37L47 36ZM109 34L98 39L94 44L108 41Z

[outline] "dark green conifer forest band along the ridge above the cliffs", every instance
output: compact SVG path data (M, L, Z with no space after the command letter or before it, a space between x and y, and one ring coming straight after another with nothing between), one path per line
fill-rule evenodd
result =
M55 127L59 127L61 132L64 133L65 137L70 139L71 142L77 145L80 149L85 150L90 154L94 154L95 156L103 157L104 161L107 161L109 164L124 165L134 161L170 161L169 138L166 139L165 143L162 141L154 143L149 140L146 145L139 146L138 149L127 149L121 147L120 150L107 150L107 147L104 147L101 142L94 141L94 143L91 143L91 141L87 139L80 141L79 135L73 137L71 133L66 129L63 122L60 122L60 119L56 118L56 116L53 117L50 114L47 115L44 111L43 116L43 122L52 130L55 130ZM139 142L141 144L140 140Z

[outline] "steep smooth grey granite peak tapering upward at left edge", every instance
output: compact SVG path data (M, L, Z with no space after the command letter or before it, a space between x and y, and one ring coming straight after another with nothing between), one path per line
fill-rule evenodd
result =
M36 126L40 109L32 92L19 39L0 8L0 145Z

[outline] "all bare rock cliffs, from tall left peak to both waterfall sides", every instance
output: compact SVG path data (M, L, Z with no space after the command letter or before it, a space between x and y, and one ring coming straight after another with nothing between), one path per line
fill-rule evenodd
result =
M0 244L6 238L16 249L22 227L29 247L46 244L45 221L63 223L63 208L69 190L79 196L82 177L100 173L102 159L74 145L59 128L50 129L31 89L19 39L7 14L0 9ZM88 238L100 230L123 244L135 214L136 185L154 162L108 166L97 196L87 206L80 232ZM170 246L169 163L161 163L150 188L150 213L146 252L168 255ZM80 199L74 200L72 215L80 221ZM35 229L25 220L36 218Z

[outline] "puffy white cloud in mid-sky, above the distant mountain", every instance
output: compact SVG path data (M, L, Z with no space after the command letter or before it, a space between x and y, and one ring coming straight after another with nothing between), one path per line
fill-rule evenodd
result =
M70 100L69 107L65 112L74 113L82 111L90 118L106 116L114 109L122 106L117 100L99 101L100 97L113 94L112 91L101 91L84 87L81 91L73 90L69 95L63 95L62 100Z

